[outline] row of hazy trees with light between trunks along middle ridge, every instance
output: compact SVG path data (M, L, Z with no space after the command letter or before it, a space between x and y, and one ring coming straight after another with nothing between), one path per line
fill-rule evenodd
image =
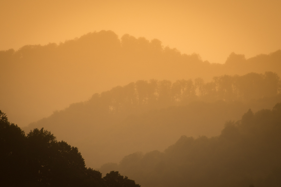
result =
M243 76L223 75L206 83L202 78L195 78L194 81L177 80L173 84L168 80L139 80L94 94L89 102L100 104L108 113L120 113L144 107L152 109L186 105L198 100L247 102L275 97L280 92L280 86L278 74L271 71Z

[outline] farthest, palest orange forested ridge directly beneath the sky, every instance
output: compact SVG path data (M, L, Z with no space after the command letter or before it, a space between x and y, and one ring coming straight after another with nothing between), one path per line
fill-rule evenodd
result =
M5 98L0 106L24 126L116 85L198 77L209 82L215 76L250 72L281 74L280 60L279 50L250 59L231 53L225 64L211 64L198 54L162 46L157 39L128 34L118 38L112 31L100 31L60 44L0 51L0 97Z

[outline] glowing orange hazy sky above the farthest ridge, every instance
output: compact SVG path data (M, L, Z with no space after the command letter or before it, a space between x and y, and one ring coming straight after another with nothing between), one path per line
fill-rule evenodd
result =
M0 50L112 30L224 63L281 49L280 10L280 0L0 0Z

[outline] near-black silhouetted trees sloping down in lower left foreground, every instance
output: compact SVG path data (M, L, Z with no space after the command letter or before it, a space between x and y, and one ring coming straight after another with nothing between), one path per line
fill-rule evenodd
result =
M140 187L118 171L103 178L87 168L77 147L57 141L51 132L24 131L0 110L0 186Z

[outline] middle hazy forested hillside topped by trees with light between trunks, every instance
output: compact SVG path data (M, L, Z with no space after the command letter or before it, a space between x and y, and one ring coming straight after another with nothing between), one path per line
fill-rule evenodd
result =
M217 136L227 120L251 108L281 102L279 76L273 72L223 75L210 82L132 82L73 103L24 130L44 127L79 147L87 166L118 162L135 151L163 151L180 136ZM196 94L197 93L197 94Z

